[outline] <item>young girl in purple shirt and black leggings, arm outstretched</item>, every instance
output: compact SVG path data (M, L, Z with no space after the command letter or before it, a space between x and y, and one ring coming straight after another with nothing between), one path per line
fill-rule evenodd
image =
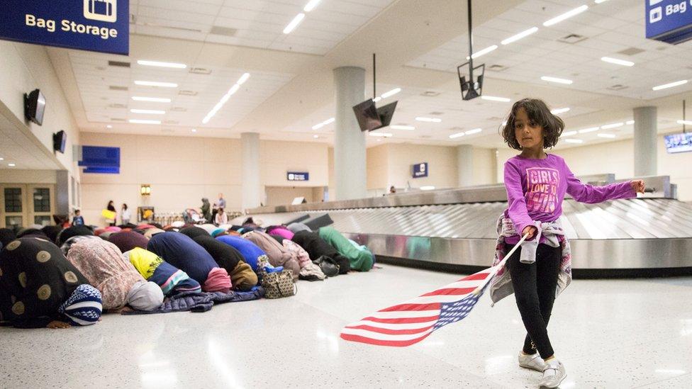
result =
M554 299L571 281L571 254L559 218L565 193L582 203L633 198L644 193L644 181L606 186L582 184L564 159L543 150L557 145L563 121L543 101L525 98L512 107L502 129L505 142L521 153L505 163L508 209L498 220L501 260L527 239L493 280L491 298L497 302L514 293L526 335L519 366L542 371L540 385L557 388L567 376L550 344L547 324Z

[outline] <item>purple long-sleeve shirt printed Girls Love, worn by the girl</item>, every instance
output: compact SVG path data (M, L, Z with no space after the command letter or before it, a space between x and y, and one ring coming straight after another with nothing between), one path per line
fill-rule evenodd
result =
M505 216L521 233L534 221L553 222L562 215L565 193L581 203L601 203L616 198L637 197L629 181L605 186L582 184L564 159L547 154L545 159L512 157L505 162L505 188L508 208ZM505 242L516 244L519 235Z

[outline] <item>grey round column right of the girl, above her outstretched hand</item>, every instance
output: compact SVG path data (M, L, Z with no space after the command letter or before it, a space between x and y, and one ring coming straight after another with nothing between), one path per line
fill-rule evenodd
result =
M657 167L657 109L635 108L635 176L655 176Z

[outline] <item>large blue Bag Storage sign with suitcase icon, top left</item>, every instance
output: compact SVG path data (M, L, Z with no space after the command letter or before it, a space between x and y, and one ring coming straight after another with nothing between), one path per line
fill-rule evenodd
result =
M129 0L2 0L0 39L130 52Z

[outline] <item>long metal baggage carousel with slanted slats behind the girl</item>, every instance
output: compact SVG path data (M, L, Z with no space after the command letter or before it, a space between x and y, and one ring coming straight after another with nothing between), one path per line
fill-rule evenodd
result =
M638 198L599 204L565 198L562 223L575 277L692 275L692 205L676 200L668 176L638 178L647 183L647 193ZM615 181L612 174L582 180L596 185ZM265 226L331 219L333 227L367 245L378 260L474 271L491 263L496 220L506 207L504 186L493 185L262 207L247 216Z

